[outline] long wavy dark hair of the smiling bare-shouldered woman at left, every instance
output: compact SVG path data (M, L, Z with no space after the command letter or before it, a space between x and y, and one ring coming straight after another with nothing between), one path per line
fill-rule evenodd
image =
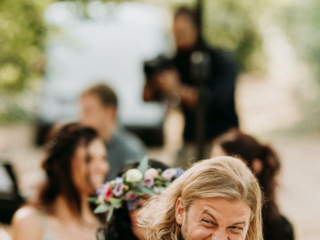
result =
M98 137L91 127L79 123L68 123L57 130L46 145L46 156L42 167L46 172L46 182L39 191L37 204L52 213L52 204L58 195L66 199L68 207L75 215L80 215L80 194L72 180L71 161L76 148L87 146Z

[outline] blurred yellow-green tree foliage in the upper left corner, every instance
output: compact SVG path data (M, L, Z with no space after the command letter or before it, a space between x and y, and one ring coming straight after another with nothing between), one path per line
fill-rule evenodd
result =
M42 70L45 25L35 0L0 1L0 89L20 91Z

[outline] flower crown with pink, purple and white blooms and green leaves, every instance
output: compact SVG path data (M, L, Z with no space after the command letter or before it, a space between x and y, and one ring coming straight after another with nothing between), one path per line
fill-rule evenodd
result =
M148 168L148 158L144 157L137 168L127 170L121 177L105 182L97 191L97 197L90 197L97 207L94 213L107 212L106 221L109 222L114 208L120 208L126 202L129 210L136 209L135 203L142 196L153 196L160 193L166 186L180 176L182 168Z

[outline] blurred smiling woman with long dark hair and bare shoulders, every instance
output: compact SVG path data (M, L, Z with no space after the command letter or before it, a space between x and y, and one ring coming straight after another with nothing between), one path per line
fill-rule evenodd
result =
M12 239L95 239L101 225L87 197L108 171L103 140L90 127L62 126L48 142L42 167L46 182L35 202L18 209Z

